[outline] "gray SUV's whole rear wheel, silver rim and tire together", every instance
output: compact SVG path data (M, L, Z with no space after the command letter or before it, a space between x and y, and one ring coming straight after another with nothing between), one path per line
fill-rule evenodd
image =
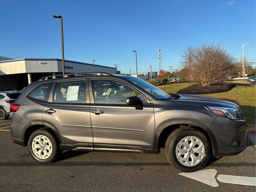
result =
M31 156L40 163L53 162L58 154L56 140L44 128L36 130L30 135L28 149Z

